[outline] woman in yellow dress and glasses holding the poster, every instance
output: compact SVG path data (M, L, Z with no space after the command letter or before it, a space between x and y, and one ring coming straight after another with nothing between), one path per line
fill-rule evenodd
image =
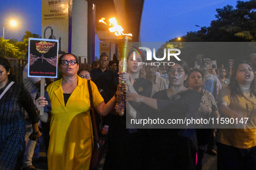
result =
M49 170L88 170L93 148L93 133L90 117L90 98L87 80L77 75L78 59L73 54L64 54L59 60L62 79L47 87L52 111L39 118L50 120L48 149ZM95 110L107 115L116 105L116 96L105 104L97 86L91 82L92 101ZM36 107L47 104L45 98L36 100Z

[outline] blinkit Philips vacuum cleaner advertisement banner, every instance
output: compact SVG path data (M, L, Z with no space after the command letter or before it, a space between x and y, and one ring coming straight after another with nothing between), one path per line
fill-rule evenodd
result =
M59 54L68 53L68 0L42 0L42 38L59 40Z

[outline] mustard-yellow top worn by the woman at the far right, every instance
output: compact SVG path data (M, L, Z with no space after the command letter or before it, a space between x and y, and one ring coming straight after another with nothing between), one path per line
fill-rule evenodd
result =
M234 123L230 124L220 124L219 130L216 135L217 142L225 145L230 145L236 148L252 148L256 146L256 107L254 108L254 102L256 102L256 97L250 97L250 93L243 93L244 97L232 95L230 98L230 88L224 86L221 88L218 95L218 103L220 101L227 101L228 107L242 114L243 118L249 118L246 123L246 128L254 129L224 129L224 128L236 128L237 122L233 117ZM248 110L246 108L248 106ZM220 112L220 117L226 117L224 113ZM239 122L240 120L238 120ZM243 119L245 122L246 119Z

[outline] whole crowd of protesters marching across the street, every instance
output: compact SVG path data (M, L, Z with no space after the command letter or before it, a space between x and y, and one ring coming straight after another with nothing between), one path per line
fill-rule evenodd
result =
M42 123L49 170L88 170L93 148L90 100L98 131L107 138L104 170L202 170L205 153L217 155L218 170L256 169L256 54L232 69L217 69L209 58L193 68L177 60L173 66L155 66L156 60L145 61L139 53L134 60L133 52L127 72L120 73L106 53L90 70L79 69L74 54L63 54L58 58L62 78L46 81L52 111L43 115L39 110L48 101L36 98L40 79L29 78L26 66L24 85L19 85L8 60L0 57L0 94L14 81L0 98L0 169L36 169L32 159ZM146 123L143 128L127 123L189 117L214 121L186 127ZM237 122L221 124L221 119Z

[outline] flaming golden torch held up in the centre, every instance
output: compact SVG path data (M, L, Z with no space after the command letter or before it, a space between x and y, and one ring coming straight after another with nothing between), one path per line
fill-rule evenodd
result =
M101 18L99 22L103 22L107 25L106 22L104 22L105 18ZM115 32L115 35L117 35L117 42L120 50L121 55L121 61L119 62L119 72L126 72L126 57L129 52L128 49L128 42L132 41L132 34L123 34L123 28L117 24L117 20L115 18L109 19L110 24L113 25L113 27L108 28L110 32ZM123 81L119 82L120 84L124 83ZM120 92L122 93L122 92ZM124 101L123 101L124 102ZM123 112L119 113L120 116L123 116Z

